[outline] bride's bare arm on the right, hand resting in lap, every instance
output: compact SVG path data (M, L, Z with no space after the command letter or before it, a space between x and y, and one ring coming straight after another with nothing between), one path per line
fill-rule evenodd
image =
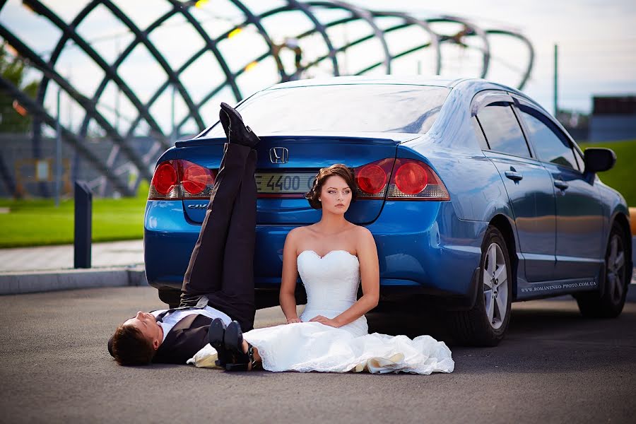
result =
M379 300L379 264L377 260L377 247L371 232L364 227L358 228L358 242L356 252L360 261L360 280L363 295L348 310L342 312L334 319L319 315L310 321L322 322L322 324L340 327L356 319L377 306Z

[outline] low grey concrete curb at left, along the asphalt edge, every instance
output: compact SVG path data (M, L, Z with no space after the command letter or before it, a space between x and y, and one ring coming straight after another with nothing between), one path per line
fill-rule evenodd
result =
M148 285L143 266L0 274L0 295L126 285Z

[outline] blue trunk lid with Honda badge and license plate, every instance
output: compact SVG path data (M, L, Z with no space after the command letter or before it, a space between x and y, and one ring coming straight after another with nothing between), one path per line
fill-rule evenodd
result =
M414 134L294 134L261 136L257 146L257 223L302 225L317 222L320 211L310 207L305 193L321 167L345 163L360 167L377 160L393 160L396 146ZM193 139L177 142L177 157L218 170L225 139ZM205 218L204 199L184 199L184 213L194 223ZM346 218L352 223L371 223L382 210L384 199L360 199L351 204Z

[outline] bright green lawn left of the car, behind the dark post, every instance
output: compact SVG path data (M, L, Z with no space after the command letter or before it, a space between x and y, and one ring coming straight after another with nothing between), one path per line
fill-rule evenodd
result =
M93 197L93 242L143 238L143 211L148 184L141 184L134 198ZM64 245L73 243L74 201L52 199L0 199L0 247Z

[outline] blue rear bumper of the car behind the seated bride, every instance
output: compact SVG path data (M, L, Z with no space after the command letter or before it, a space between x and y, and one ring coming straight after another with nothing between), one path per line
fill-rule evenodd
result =
M383 299L427 295L472 302L481 240L488 223L460 220L450 202L387 201L366 227L377 245ZM283 244L294 225L257 225L257 290L278 290ZM181 201L148 201L144 255L148 282L179 290L201 225L184 216Z

